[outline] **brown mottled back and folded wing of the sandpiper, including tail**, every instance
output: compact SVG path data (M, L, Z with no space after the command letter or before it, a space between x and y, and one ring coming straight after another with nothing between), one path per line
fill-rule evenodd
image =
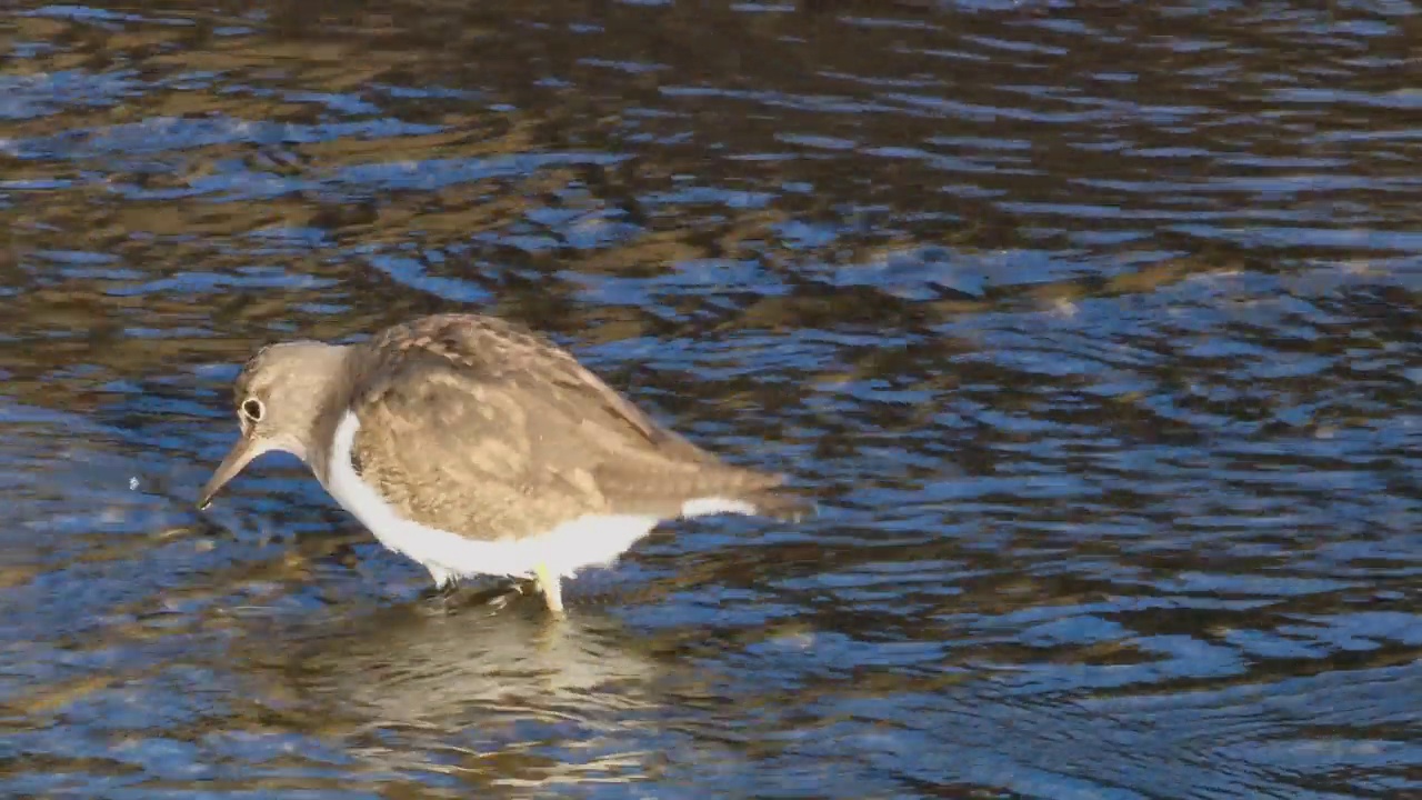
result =
M370 342L351 407L361 477L410 518L471 538L583 514L674 517L779 483L722 464L573 357L502 320L425 317Z

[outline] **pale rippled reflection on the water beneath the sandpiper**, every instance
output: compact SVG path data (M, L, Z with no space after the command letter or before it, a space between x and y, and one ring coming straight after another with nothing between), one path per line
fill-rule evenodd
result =
M651 703L661 666L596 606L550 618L536 596L422 598L310 622L276 659L316 706L367 723L461 729L489 715L596 720ZM270 663L270 656L266 659Z

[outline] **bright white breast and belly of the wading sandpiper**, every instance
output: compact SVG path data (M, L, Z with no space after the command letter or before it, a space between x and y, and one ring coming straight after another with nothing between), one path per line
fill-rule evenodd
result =
M647 515L596 514L565 522L535 537L499 541L468 540L449 531L429 528L401 518L356 474L351 467L351 447L357 430L360 420L347 411L336 427L326 490L336 502L370 528L380 544L424 564L437 584L444 584L454 575L530 577L539 564L547 565L557 575L572 578L584 567L613 564L660 521ZM708 508L711 505L707 504ZM714 505L717 511L725 510L724 502Z

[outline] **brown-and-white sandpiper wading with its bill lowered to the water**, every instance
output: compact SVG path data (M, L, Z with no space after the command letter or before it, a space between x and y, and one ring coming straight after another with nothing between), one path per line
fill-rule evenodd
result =
M532 578L559 615L562 578L613 564L660 521L811 508L781 475L721 461L566 350L489 316L427 316L360 344L270 344L235 400L242 438L199 508L257 456L292 453L437 586Z

